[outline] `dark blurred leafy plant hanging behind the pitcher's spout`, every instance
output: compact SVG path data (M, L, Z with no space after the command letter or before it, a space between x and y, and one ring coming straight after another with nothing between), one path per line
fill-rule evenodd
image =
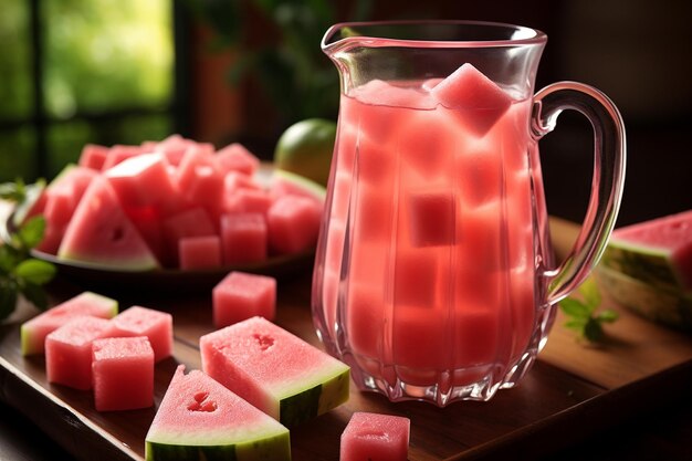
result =
M371 0L354 0L348 11L337 10L344 2L329 0L189 0L188 4L216 31L216 48L232 46L238 52L229 82L254 75L284 128L304 118L336 119L338 73L319 43L335 22L367 20ZM262 22L266 30L251 30Z

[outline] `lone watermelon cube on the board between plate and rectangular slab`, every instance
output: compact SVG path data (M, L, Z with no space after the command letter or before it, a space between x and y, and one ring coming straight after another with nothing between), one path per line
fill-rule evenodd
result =
M233 271L213 287L212 305L217 328L256 315L274 319L276 279Z

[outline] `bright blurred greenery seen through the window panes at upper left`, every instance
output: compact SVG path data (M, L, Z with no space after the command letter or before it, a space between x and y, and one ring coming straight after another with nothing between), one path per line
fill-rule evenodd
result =
M51 177L86 143L138 144L170 134L171 0L41 0L44 113ZM0 181L35 179L30 2L2 0ZM98 118L113 111L153 115ZM86 117L84 117L86 116ZM90 121L88 117L96 116Z

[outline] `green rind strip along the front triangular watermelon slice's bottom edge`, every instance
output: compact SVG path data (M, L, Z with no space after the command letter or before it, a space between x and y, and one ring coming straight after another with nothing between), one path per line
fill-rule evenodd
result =
M262 439L228 444L203 444L199 441L174 444L146 440L147 461L266 461L291 459L290 433L284 431Z

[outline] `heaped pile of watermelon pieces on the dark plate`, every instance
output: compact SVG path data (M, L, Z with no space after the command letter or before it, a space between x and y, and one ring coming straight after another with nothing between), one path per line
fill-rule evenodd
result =
M323 205L321 186L285 171L262 175L260 159L241 144L217 150L171 135L138 146L86 145L27 218L44 216L38 250L65 261L210 269L310 251ZM218 254L187 254L200 248Z

